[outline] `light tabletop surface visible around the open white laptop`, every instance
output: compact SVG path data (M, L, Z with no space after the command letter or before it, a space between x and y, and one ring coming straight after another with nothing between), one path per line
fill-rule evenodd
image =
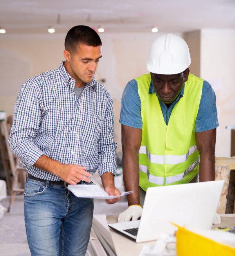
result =
M107 215L107 223L116 223L117 222L118 215ZM235 226L235 214L221 214L221 224L219 225L213 225L212 229L215 229L217 227L228 227L228 228L234 228ZM117 256L138 256L141 252L144 245L155 245L156 241L150 241L145 243L136 243L135 241L132 241L129 238L126 238L125 236L122 236L121 234L117 233L116 231L112 230L112 228L109 228L110 234L114 243L114 248L116 250ZM222 231L221 231L222 232Z

